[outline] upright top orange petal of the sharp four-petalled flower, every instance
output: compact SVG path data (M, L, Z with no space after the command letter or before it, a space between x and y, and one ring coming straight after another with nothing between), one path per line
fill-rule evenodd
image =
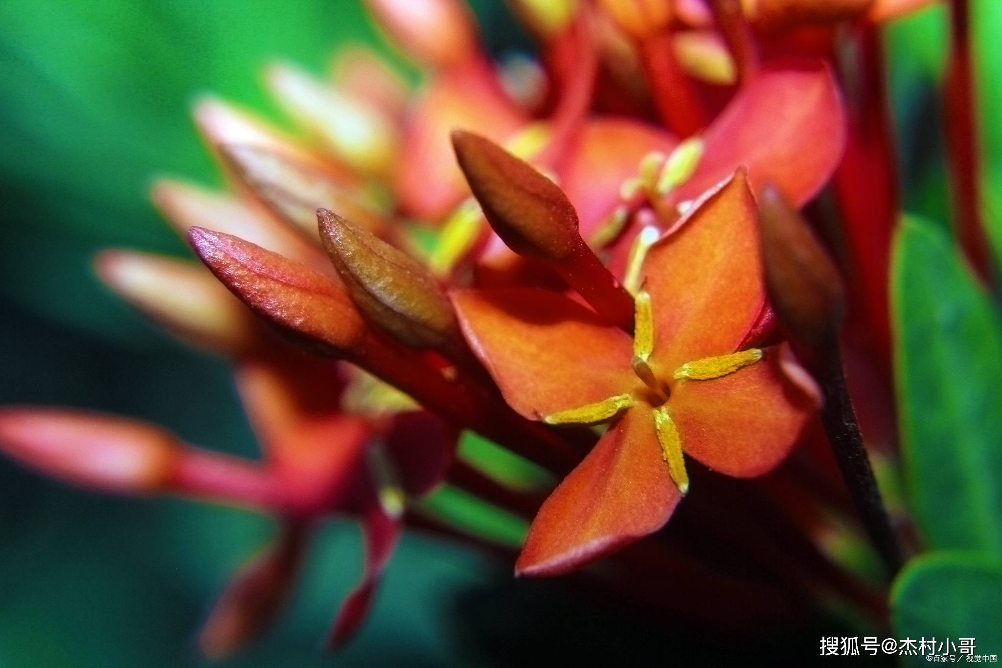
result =
M662 378L686 362L733 353L758 320L766 302L758 225L738 172L647 251L651 361Z

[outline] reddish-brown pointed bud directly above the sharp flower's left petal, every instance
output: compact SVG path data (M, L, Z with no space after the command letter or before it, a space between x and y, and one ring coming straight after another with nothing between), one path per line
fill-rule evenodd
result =
M564 259L582 243L574 206L556 183L472 132L454 130L452 145L484 215L512 250Z

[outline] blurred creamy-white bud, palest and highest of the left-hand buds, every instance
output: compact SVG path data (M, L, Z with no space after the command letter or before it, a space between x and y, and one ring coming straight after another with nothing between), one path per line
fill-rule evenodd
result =
M379 108L292 65L273 65L267 79L286 111L316 132L348 167L376 175L390 169L397 155L397 134Z

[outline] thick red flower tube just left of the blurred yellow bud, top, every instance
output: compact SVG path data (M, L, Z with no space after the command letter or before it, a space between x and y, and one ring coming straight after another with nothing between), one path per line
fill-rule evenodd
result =
M639 47L654 107L661 120L680 137L701 130L706 125L706 112L692 81L675 58L671 31L647 37Z

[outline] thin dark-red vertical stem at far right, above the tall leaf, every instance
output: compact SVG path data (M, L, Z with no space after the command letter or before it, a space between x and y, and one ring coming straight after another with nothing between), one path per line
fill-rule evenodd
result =
M960 246L974 270L985 282L991 282L992 263L981 220L981 156L978 150L968 0L950 2L950 37L944 107L954 225Z

